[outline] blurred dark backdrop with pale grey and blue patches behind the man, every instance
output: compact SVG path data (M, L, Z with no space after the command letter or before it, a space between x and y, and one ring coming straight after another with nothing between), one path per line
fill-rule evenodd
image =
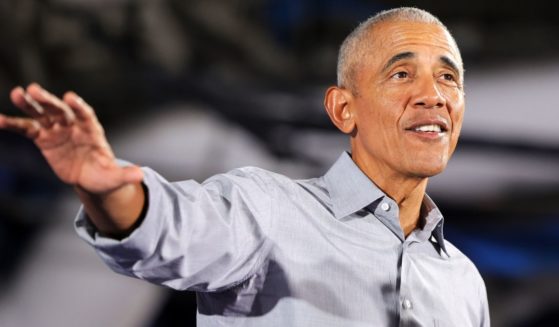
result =
M347 149L322 106L338 46L382 9L437 15L466 66L466 118L430 195L483 275L493 326L559 321L559 18L548 1L2 0L0 103L74 90L117 156L170 180L234 167L323 174ZM0 132L0 326L194 326L195 296L118 276L29 141Z

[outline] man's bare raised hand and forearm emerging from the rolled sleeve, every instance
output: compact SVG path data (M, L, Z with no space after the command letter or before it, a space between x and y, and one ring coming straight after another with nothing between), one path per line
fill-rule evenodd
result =
M0 114L0 128L33 140L55 174L72 185L99 232L122 237L133 229L146 200L139 167L120 167L93 109L77 94L60 99L31 84L12 102L28 117Z

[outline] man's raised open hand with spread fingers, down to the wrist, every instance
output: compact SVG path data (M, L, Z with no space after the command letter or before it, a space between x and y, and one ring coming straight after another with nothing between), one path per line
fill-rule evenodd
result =
M31 118L2 116L0 127L32 139L55 174L67 184L100 194L130 182L127 168L116 164L91 108L75 95L65 97L63 102L33 88L28 91L32 98L14 90L12 101Z

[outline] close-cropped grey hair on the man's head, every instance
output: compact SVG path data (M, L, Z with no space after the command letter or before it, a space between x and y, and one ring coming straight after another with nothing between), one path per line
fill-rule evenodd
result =
M375 26L380 23L387 21L407 21L407 22L418 22L427 24L436 24L444 28L450 35L450 32L446 26L431 13L413 7L402 7L390 10L384 10L376 15L370 17L366 21L360 23L344 40L340 46L340 51L338 54L338 86L345 87L352 91L355 90L355 76L357 70L359 69L359 63L364 59L367 54L369 47L365 45L365 42L370 44L369 40L366 40L370 36L370 32L375 28ZM456 45L456 41L451 36L453 45ZM461 60L461 58L459 58Z

